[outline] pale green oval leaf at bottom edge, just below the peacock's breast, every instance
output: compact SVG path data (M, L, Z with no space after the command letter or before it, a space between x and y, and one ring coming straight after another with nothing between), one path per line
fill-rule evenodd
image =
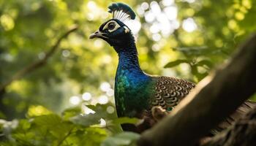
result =
M119 146L119 145L132 145L137 139L139 139L140 134L133 132L122 132L116 134L113 137L108 137L102 142L102 146Z

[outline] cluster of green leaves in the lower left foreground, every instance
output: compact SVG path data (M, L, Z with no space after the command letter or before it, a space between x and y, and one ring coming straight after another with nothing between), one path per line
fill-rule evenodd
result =
M132 145L139 135L122 132L119 124L138 120L109 115L108 106L89 105L94 111L90 114L81 114L80 108L74 107L61 115L49 112L21 120L0 120L0 145Z

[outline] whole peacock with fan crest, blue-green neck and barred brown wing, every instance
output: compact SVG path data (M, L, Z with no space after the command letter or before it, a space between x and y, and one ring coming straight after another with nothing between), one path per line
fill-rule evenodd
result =
M118 54L118 67L115 78L115 102L118 117L140 118L143 124L135 126L122 124L124 131L142 132L161 120L173 110L182 99L195 88L195 83L176 77L152 76L140 69L135 37L125 25L135 19L135 12L123 3L113 3L109 7L113 18L103 23L90 39L100 38L108 42ZM237 112L220 124L225 128L233 120L255 106L246 101Z

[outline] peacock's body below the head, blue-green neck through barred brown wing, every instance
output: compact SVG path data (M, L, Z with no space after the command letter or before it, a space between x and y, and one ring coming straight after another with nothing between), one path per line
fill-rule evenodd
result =
M116 48L116 50L122 50L118 53L119 61L115 80L118 117L148 117L151 120L147 121L146 128L149 128L155 122L151 115L152 107L161 106L170 111L195 87L195 84L186 80L144 73L138 63L135 45L130 45L129 48ZM131 130L132 126L124 125L123 128ZM138 130L133 128L132 131Z

